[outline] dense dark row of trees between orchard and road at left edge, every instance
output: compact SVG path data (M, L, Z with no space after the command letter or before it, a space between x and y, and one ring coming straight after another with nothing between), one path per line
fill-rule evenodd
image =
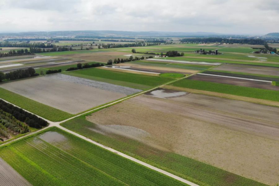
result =
M18 108L12 104L9 104L3 100L0 100L0 109L4 112L10 113L13 115L17 120L21 122L25 122L28 126L34 128L42 128L43 126L47 126L47 121L43 120L42 118L26 112L22 108Z

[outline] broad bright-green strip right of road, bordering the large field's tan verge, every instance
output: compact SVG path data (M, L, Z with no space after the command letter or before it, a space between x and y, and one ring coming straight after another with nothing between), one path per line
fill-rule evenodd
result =
M251 88L245 86L235 86L223 83L214 83L198 80L183 79L172 84L173 86L191 88L203 91L220 92L224 94L232 94L238 96L245 96L250 98L257 98L262 100L279 101L278 91Z

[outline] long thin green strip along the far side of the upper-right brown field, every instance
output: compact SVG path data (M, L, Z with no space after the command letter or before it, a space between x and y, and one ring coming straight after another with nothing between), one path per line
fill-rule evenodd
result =
M230 61L228 60L215 60L215 59L204 59L204 58L191 58L191 57L169 57L168 60L180 60L180 61L201 61L201 62L212 62L212 63L232 63L232 64L249 64L257 66L268 66L268 67L279 67L279 64L270 63L253 63L251 62L241 62L241 61Z

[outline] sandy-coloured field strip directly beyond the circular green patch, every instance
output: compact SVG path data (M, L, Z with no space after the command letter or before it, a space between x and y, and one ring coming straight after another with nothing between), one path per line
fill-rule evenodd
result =
M145 65L138 65L132 63L119 63L116 66L125 67L128 69L134 70L142 70L142 71L150 71L150 72L157 72L157 73L185 73L185 74L192 74L198 72L198 70L189 70L189 69L176 69L176 68L167 68L167 67L157 67L157 66L145 66Z

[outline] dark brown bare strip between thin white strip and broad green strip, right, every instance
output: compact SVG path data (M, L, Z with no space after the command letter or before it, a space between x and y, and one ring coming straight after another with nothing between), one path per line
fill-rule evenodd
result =
M217 76L207 76L201 74L196 74L194 76L189 77L188 79L279 91L279 86L273 86L269 82L251 81L245 79L225 78L225 77L217 77Z

